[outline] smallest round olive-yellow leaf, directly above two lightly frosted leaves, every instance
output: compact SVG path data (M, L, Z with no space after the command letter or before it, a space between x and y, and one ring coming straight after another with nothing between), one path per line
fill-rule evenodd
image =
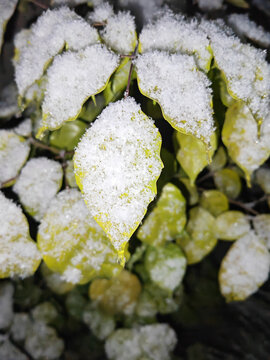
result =
M213 216L218 216L229 209L227 196L218 190L204 191L201 195L200 205Z

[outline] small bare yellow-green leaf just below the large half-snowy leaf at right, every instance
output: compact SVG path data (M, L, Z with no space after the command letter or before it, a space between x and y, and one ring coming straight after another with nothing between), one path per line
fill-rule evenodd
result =
M242 188L238 173L232 169L224 168L214 173L214 182L218 190L230 199L236 199Z

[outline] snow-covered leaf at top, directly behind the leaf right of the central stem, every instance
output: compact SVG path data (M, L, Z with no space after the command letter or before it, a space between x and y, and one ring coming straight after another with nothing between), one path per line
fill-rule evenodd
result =
M169 11L142 29L139 50L142 53L161 50L195 55L197 65L205 72L210 69L212 59L209 40L198 29L197 20L188 21Z

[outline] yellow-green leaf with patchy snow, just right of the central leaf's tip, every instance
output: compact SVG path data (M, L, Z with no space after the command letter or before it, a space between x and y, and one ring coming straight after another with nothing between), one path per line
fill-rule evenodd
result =
M137 237L153 246L175 239L186 224L186 200L173 184L166 184L161 196L140 227Z

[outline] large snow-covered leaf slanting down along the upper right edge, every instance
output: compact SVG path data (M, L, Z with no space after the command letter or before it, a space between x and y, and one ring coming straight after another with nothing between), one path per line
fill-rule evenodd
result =
M202 31L210 37L216 66L221 70L229 94L249 107L260 125L269 113L270 65L266 52L240 40L223 23L203 22Z

